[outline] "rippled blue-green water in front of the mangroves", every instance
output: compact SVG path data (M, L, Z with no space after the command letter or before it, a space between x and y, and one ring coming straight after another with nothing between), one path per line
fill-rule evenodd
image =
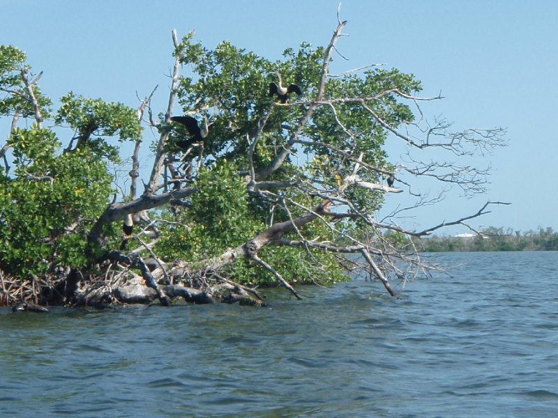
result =
M557 417L558 252L238 305L0 312L3 417ZM466 263L466 264L463 264Z

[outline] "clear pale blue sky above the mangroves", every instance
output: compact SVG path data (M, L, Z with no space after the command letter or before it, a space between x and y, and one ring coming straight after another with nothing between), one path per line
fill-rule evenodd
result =
M327 45L337 8L337 0L0 0L0 43L19 47L35 72L44 71L40 86L53 100L71 90L137 107L137 96L158 84L158 112L166 109L174 63L172 29L180 38L195 29L206 47L230 40L279 59L302 41ZM445 98L425 104L425 116L442 115L455 129L508 130L507 148L471 160L493 169L487 194L465 199L458 190L448 192L438 206L402 224L425 228L492 200L512 205L493 208L473 226L558 230L557 17L554 0L342 1L349 36L338 49L349 61L335 56L333 72L372 63L412 72L423 82L423 96L442 92ZM7 126L0 121L2 132ZM395 149L388 146L397 164ZM404 194L393 194L386 206L408 203Z

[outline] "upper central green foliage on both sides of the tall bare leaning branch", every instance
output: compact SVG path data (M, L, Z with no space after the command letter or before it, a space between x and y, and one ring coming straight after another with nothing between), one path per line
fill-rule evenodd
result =
M248 169L246 134L255 133L259 119L273 102L268 97L269 82L277 81L273 72L279 71L285 84L293 82L302 86L304 97L310 100L317 91L324 58L324 48L303 43L296 52L285 50L284 61L272 62L237 49L229 42L222 42L214 50L206 49L193 42L191 35L184 38L179 49L184 52L183 63L193 72L192 76L181 78L179 102L187 111L203 109L202 113L215 123L213 134L206 141L206 152L213 155L225 152L223 155L241 171ZM380 96L377 100L365 100L372 112L393 126L410 123L414 119L412 111L400 103L395 89L409 94L420 91L421 84L412 75L395 69L369 70L363 77L345 75L327 79L326 98L349 100L336 102L335 113L329 106L320 107L311 123L304 127L304 139L311 140L312 144L301 146L300 151L313 155L314 159L301 164L289 156L269 180L315 176L324 187L334 187L340 178L352 172L354 162L340 157L330 147L353 149L355 155L362 152L368 164L391 168L382 148L387 131L357 99ZM303 107L273 109L265 133L258 139L254 155L256 171L273 161L292 134L284 126L296 126L303 111ZM363 171L361 178L376 183L381 180L373 171ZM371 213L382 206L381 194L356 187L347 189L345 194L361 212ZM357 223L360 227L361 222Z

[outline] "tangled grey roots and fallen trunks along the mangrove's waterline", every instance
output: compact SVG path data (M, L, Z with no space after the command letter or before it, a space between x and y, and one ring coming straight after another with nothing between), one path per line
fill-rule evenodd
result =
M236 284L216 270L190 270L183 261L170 266L164 274L163 263L111 251L97 267L99 274L87 279L69 269L58 269L56 274L30 281L12 279L0 271L0 306L12 306L14 311L45 312L47 309L42 305L54 303L90 307L156 301L164 306L178 301L265 305L264 297L255 289ZM71 275L77 277L75 291L67 295L65 285Z

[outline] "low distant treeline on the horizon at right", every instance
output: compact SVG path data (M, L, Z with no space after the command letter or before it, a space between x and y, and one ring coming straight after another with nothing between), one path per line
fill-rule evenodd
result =
M538 231L513 231L490 226L480 235L470 237L432 236L413 240L422 251L556 251L558 233L552 228Z

